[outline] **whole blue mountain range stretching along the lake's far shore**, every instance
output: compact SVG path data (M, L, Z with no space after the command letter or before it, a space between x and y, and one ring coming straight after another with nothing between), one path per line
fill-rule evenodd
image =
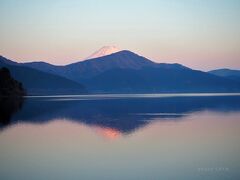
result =
M27 89L78 89L89 93L240 92L240 82L181 64L155 63L131 51L56 66L46 62L16 63L0 58ZM22 72L22 73L20 73ZM24 73L23 73L24 72ZM34 75L34 76L33 76ZM85 88L84 88L85 87ZM39 91L41 94L41 91ZM71 91L65 91L71 92Z

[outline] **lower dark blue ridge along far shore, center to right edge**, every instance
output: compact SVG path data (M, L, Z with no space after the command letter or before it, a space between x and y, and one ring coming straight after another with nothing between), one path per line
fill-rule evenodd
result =
M191 69L112 69L87 81L98 93L240 92L240 83Z

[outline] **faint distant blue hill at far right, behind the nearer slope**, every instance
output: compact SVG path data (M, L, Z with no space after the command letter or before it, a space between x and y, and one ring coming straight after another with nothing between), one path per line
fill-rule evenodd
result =
M240 82L240 70L216 69L209 71L208 73Z

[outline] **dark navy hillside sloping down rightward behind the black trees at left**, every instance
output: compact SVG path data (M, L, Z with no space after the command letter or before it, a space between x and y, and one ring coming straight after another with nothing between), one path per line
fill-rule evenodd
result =
M23 87L26 88L28 95L79 94L86 92L84 86L79 83L19 65L2 56L0 57L0 67L8 68L13 78L21 82Z

